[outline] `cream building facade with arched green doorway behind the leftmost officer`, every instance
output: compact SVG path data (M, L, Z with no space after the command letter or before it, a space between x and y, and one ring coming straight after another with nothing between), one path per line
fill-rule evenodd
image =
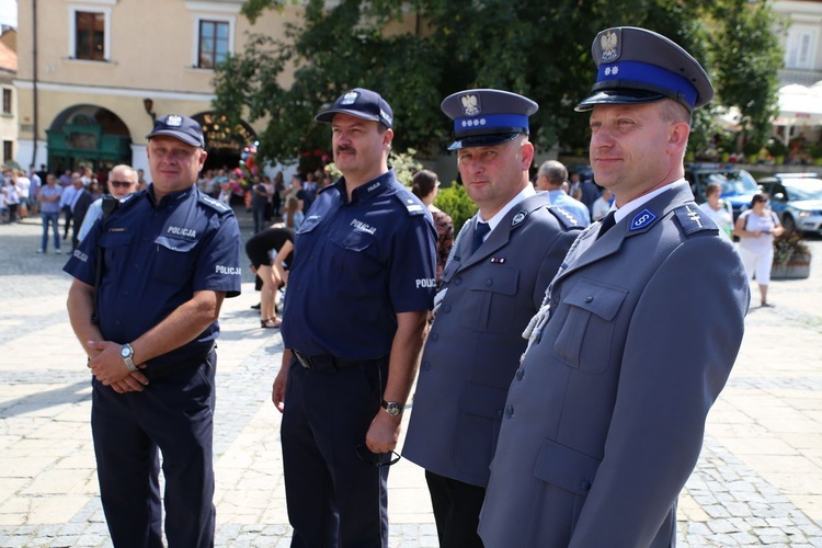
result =
M269 11L251 26L242 3L19 2L18 161L52 172L117 163L148 172L145 136L156 117L174 113L203 124L209 168L236 167L260 127L229 127L213 111L214 67L242 52L247 33L282 36L298 14Z

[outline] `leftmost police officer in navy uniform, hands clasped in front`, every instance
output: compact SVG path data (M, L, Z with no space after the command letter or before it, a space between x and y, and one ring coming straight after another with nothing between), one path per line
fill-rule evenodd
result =
M75 251L68 310L94 376L91 426L114 546L162 546L159 448L168 543L208 547L217 317L240 294L242 242L231 209L195 185L199 124L165 116L147 138L153 182Z

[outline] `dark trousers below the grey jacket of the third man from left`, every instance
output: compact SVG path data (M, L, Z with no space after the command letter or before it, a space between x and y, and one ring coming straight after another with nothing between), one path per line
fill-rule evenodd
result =
M439 548L482 548L477 534L486 488L425 470Z

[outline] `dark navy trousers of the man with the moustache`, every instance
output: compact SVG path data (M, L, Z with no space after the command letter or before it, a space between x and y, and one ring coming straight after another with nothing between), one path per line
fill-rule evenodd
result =
M357 457L388 362L331 372L292 361L281 437L293 547L387 547L388 467Z

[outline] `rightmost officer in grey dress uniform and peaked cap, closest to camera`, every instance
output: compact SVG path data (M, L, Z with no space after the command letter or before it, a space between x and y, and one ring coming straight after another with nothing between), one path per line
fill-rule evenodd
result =
M576 110L616 201L528 330L480 517L487 546L673 546L677 495L742 341L744 269L684 178L708 76L643 28L607 28L592 49L597 80Z

